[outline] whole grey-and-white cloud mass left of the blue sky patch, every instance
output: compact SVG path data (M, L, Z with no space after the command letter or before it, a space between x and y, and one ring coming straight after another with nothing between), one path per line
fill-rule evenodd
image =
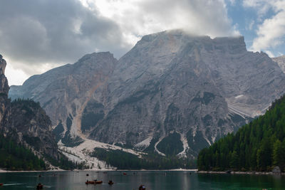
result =
M143 35L173 28L211 37L239 34L224 0L9 0L1 2L0 18L9 78L12 70L38 74L94 51L120 58Z

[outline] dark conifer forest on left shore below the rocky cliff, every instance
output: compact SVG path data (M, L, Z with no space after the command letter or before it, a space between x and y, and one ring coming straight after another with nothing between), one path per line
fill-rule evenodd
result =
M9 138L0 135L0 167L8 170L45 170L46 164L42 159L16 144Z

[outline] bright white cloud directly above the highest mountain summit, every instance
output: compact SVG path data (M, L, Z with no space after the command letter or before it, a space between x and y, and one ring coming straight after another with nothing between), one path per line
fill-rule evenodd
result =
M184 28L191 33L211 37L239 35L232 27L226 4L222 0L88 2L91 7L97 7L100 14L118 23L123 33L130 38L129 41L137 41L140 36L148 33L173 28Z

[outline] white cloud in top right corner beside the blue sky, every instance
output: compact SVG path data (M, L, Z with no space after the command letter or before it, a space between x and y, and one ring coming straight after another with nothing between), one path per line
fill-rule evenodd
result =
M253 51L268 51L269 48L284 43L285 36L285 1L257 1L244 0L244 5L258 9L259 14L264 14L264 10L271 9L274 15L269 19L264 19L257 28L257 38L254 38L251 49ZM262 8L266 7L266 8ZM271 56L274 56L271 54Z

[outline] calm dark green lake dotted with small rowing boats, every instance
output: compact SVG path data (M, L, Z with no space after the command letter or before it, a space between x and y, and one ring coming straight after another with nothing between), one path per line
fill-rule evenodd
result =
M186 189L285 189L285 176L249 174L197 174L194 171L57 171L0 173L0 190L36 189L122 189L146 190ZM41 174L41 177L38 175ZM89 174L89 176L86 176ZM102 180L103 184L85 184L86 179ZM113 186L108 181L113 180Z

